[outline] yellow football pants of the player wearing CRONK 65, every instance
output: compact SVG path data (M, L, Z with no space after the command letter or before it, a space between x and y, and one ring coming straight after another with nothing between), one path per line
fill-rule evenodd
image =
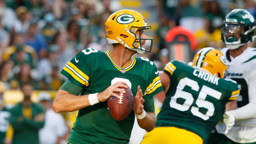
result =
M203 144L203 139L181 128L157 127L147 132L140 144Z

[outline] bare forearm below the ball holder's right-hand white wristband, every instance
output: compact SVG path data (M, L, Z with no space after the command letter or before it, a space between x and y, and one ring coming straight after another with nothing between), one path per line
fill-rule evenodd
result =
M154 112L146 112L145 118L137 119L140 128L150 132L155 128L156 114Z

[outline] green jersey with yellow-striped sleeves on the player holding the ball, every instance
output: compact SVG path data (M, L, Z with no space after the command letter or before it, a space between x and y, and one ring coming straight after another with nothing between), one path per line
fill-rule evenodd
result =
M147 104L162 91L156 66L147 58L132 57L124 68L118 66L110 51L102 52L88 48L79 52L61 72L74 84L84 88L81 95L102 92L111 84L124 81L136 96L138 85L144 94L144 110L154 112L154 104ZM147 107L152 105L151 107ZM110 115L107 101L82 108L69 136L71 144L127 144L134 124L134 111L121 121Z

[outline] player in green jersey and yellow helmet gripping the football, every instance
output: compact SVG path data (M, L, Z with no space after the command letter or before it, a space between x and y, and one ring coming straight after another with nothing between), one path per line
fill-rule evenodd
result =
M114 12L105 26L106 38L113 49L108 52L94 48L82 50L61 72L68 80L58 91L53 108L55 112L79 110L68 138L71 144L128 144L135 116L141 128L154 129L156 115L152 96L163 94L158 70L147 58L132 56L150 52L153 39L147 38L144 30L151 26L134 10ZM148 49L144 47L146 40L151 42ZM124 93L118 87L127 88L125 84L135 96L134 107L124 120L116 121L110 115L106 100L110 96L119 98L114 92Z

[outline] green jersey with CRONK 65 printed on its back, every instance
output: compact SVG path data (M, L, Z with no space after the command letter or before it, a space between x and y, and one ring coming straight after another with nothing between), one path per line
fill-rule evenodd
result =
M222 118L225 104L238 97L238 84L179 61L166 64L164 72L170 77L170 88L157 116L156 127L186 129L198 134L205 143Z

